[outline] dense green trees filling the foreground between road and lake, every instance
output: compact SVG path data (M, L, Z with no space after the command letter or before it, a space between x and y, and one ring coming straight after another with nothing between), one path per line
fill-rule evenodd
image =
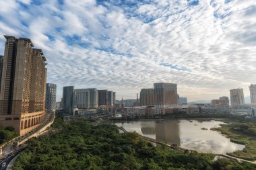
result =
M256 169L251 163L213 159L154 146L136 132L119 133L117 126L59 117L51 134L29 141L13 169Z

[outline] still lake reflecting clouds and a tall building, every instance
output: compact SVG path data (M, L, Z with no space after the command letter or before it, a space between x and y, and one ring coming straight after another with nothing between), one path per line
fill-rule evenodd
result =
M243 150L244 145L235 144L229 138L210 130L220 127L224 122L197 120L139 120L129 122L113 122L123 126L127 131L136 131L166 144L177 144L183 148L192 149L201 153L232 153ZM202 130L205 128L207 130Z

